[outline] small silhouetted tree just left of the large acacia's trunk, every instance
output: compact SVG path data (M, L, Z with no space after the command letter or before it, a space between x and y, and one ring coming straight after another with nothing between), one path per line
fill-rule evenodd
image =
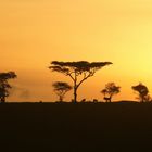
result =
M72 86L69 86L67 83L64 81L55 81L52 84L54 88L54 92L56 96L59 96L59 101L62 102L66 92L68 92L72 89Z

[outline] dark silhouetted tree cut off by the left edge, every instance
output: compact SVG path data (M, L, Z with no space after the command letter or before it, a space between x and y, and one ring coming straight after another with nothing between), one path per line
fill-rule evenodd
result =
M12 87L8 80L16 77L14 72L0 73L0 102L5 102L5 98L10 94L9 89Z

